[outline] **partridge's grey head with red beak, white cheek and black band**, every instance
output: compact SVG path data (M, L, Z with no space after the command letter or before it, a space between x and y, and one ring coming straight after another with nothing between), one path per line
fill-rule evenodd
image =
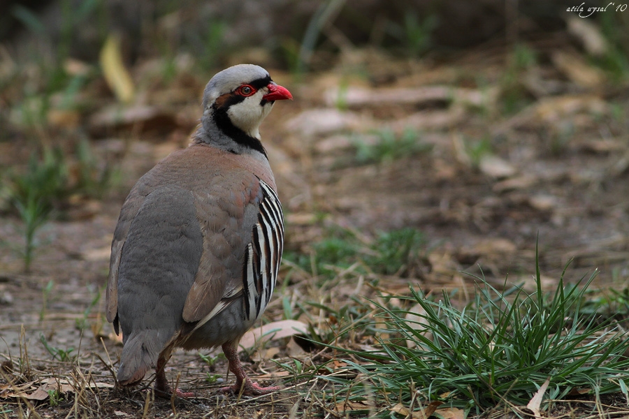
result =
M263 151L259 126L275 101L293 98L290 92L271 80L268 71L253 64L238 64L217 73L203 91L203 119L208 142L226 135L238 145ZM218 138L217 138L218 139ZM222 140L226 142L226 140ZM233 148L233 147L232 147Z

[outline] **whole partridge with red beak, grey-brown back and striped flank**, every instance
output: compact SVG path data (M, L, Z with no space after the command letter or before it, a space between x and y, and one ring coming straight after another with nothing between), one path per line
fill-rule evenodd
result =
M106 317L123 348L116 378L136 385L155 370L157 395L175 348L221 346L236 383L223 392L265 395L238 342L273 294L284 220L259 126L288 89L254 64L219 71L203 91L190 144L145 173L124 200L111 244Z

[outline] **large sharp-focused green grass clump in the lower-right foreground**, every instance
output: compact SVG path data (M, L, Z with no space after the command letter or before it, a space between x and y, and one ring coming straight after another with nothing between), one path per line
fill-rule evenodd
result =
M600 395L625 392L627 333L612 318L582 310L596 272L568 286L564 270L551 295L542 290L537 262L535 272L537 289L530 295L517 286L500 292L477 277L475 300L463 309L446 293L437 300L413 288L406 299L421 313L373 302L377 316L387 319L381 330L388 337L378 338L374 351L335 346L358 360L347 363L364 378L327 379L349 399L366 399L375 390L389 408L438 400L475 414L496 404L524 406L547 380L547 400L587 390L598 402ZM380 416L389 417L384 409Z

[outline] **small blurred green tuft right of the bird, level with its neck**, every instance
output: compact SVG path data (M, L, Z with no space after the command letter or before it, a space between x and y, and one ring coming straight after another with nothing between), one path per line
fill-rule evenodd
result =
M368 144L359 138L354 140L356 161L360 164L390 163L403 157L430 151L433 146L419 141L419 133L406 128L401 135L391 128L376 131L377 140Z

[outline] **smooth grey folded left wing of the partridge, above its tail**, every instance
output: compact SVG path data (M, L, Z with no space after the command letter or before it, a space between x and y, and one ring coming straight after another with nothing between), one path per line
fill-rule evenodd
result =
M172 335L180 328L202 250L192 193L177 186L152 191L131 221L120 257L117 311L125 338L136 330Z

